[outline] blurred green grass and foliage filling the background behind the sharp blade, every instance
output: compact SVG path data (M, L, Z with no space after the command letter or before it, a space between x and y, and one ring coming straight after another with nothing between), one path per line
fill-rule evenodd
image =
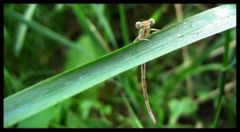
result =
M183 13L187 17L215 6L183 5ZM177 22L172 4L37 4L31 12L35 28L25 25L21 29L24 24L14 21L7 11L24 16L27 7L4 4L4 97L123 47L137 36L136 21L153 17L158 29ZM223 32L189 46L191 64L187 67L182 65L180 50L147 63L156 125L148 117L139 70L134 68L12 127L210 127L217 108L225 43L229 49L224 65L229 67L222 84L226 93L217 127L236 127L236 29L228 32L228 38ZM194 99L187 93L189 76Z

